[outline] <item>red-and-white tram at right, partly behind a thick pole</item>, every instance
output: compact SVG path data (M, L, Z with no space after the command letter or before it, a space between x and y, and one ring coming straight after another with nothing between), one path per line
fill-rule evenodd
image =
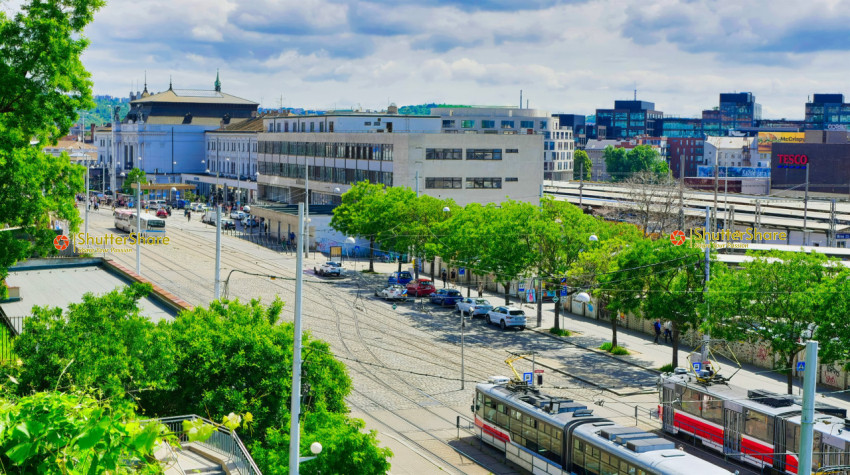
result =
M663 430L685 434L728 457L797 473L802 401L793 395L745 390L725 380L697 377L677 368L659 378ZM812 470L850 475L850 420L847 411L815 403ZM821 473L821 472L818 472Z

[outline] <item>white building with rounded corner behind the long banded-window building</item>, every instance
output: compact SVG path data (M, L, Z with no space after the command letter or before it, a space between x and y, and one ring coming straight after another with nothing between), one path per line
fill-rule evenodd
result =
M543 137L543 178L571 180L573 176L573 130L563 127L558 117L539 109L515 107L435 107L447 134L478 133L540 135Z

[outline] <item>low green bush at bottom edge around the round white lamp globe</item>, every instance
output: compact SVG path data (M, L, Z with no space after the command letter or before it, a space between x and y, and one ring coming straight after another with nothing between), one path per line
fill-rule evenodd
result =
M387 473L393 453L378 446L377 433L364 431L364 423L345 414L313 412L304 415L302 456L311 455L310 444L320 441L322 453L301 465L305 473ZM289 428L270 428L265 443L251 446L257 465L268 475L289 473Z

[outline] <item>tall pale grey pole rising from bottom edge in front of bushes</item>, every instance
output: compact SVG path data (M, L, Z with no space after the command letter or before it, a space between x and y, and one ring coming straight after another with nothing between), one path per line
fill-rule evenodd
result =
M295 335L292 345L292 399L290 400L289 425L289 473L298 475L299 445L301 432L301 295L304 284L304 203L298 203L298 240L295 245Z

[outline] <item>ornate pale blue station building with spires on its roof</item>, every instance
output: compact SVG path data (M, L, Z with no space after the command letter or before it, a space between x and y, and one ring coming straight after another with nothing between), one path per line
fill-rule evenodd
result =
M181 173L203 173L204 133L256 116L259 105L221 92L218 76L211 91L169 85L165 92L150 94L145 84L133 97L123 120L95 131L98 156L112 164L116 182L133 168L157 183L177 182Z

